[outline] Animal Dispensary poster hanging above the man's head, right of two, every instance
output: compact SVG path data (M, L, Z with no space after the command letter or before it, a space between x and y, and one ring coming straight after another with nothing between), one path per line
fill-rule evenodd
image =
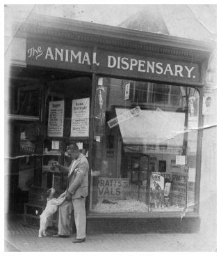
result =
M90 98L72 100L71 137L89 136Z

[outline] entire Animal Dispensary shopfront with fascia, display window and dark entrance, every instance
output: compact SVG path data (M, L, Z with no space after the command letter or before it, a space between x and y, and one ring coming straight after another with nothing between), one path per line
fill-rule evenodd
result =
M44 16L18 38L8 116L26 203L43 204L51 186L65 190L51 162L68 166L65 149L76 142L90 165L88 232L199 229L211 45Z

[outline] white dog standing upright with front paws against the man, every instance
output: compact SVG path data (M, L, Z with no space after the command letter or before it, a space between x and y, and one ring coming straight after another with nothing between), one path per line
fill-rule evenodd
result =
M49 225L49 220L51 216L57 211L58 206L62 204L65 201L64 197L54 197L54 193L56 190L54 188L50 188L47 190L46 197L47 197L47 205L40 215L40 229L38 233L38 237L47 236L45 233L45 229L47 229L47 226Z

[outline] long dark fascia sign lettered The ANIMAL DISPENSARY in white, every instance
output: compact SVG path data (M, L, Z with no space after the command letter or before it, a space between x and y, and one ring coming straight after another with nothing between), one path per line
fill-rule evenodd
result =
M69 70L83 69L101 73L120 73L133 77L199 82L197 63L179 62L165 58L142 57L131 54L106 52L92 48L71 47L27 40L26 63Z

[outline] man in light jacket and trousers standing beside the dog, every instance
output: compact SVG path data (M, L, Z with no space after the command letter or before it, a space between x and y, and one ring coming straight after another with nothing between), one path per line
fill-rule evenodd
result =
M67 154L72 158L69 168L54 163L61 172L68 172L67 189L60 195L66 200L59 208L58 234L54 237L69 237L71 213L74 210L76 239L73 243L82 243L86 236L85 197L88 195L88 160L79 152L79 147L76 144L67 146Z

